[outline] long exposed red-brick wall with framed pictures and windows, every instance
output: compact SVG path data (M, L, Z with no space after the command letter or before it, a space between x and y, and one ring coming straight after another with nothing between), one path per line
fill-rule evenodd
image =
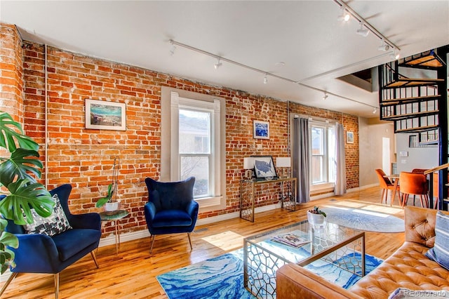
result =
M42 145L42 156L44 54L42 45L25 42L25 128L27 134ZM130 211L130 216L121 221L124 231L147 229L143 214L147 201L144 180L160 176L161 86L217 95L226 100L227 208L201 213L199 218L239 211L243 157L251 154L288 156L287 102L48 47L48 188L72 184L69 205L73 213L99 211L95 201L105 195L112 180L114 157L119 157L119 198L123 207ZM86 98L126 103L126 131L84 128ZM350 115L292 103L290 111L337 119L345 128L355 121L351 129L358 120ZM269 121L269 140L253 138L253 120ZM356 132L354 128L354 135ZM347 147L347 150L357 152L354 163L358 166L357 145L354 142L354 149ZM351 152L349 157L353 157ZM353 180L352 175L355 173L348 174L348 179ZM358 180L358 176L354 176L354 180ZM354 184L351 182L351 185ZM278 192L267 192L270 188L276 187L264 185L257 191L263 195L263 201L257 201L256 206L279 202ZM105 230L112 232L112 227Z

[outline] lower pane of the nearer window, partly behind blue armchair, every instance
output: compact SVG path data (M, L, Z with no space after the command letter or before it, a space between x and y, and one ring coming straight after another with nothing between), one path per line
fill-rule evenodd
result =
M181 180L195 177L194 197L209 195L209 157L181 156Z

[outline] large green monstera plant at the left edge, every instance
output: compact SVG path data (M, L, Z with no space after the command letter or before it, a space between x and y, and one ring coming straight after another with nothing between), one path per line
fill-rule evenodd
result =
M9 265L14 267L14 253L6 246L18 247L14 234L5 232L7 220L18 225L32 223L31 209L42 217L53 212L51 194L36 178L41 178L42 162L39 145L23 133L22 126L6 112L0 111L0 269L4 273Z

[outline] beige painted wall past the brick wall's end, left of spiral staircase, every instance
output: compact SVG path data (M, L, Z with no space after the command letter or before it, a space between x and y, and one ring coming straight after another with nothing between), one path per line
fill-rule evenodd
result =
M359 186L379 184L375 174L376 168L382 168L382 138L389 138L390 161L396 161L394 154L394 126L393 123L380 122L378 119L358 118L358 157L359 157ZM384 170L389 173L390 169Z

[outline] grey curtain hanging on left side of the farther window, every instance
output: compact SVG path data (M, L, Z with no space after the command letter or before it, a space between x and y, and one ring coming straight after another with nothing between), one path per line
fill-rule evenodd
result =
M297 179L296 201L310 200L309 120L293 119L293 177Z

